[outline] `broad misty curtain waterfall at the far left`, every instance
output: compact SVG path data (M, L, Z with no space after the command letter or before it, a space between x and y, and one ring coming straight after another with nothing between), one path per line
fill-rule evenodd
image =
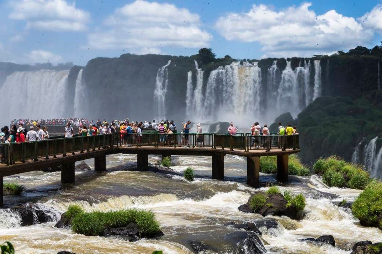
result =
M68 117L65 102L69 70L13 72L5 80L0 93L4 119L37 119ZM6 111L10 109L10 111Z

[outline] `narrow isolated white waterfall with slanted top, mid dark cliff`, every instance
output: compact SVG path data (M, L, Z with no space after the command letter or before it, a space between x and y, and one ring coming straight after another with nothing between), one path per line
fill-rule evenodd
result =
M168 60L166 65L163 65L158 69L157 81L155 83L154 91L154 101L157 106L158 117L166 117L166 105L165 98L168 86L168 70L167 67L170 65L171 60Z

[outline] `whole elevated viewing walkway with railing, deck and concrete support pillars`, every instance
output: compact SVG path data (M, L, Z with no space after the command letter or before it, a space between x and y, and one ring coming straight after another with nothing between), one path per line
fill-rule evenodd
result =
M188 140L188 145L185 142ZM106 155L137 154L137 168L149 168L149 155L212 156L212 178L223 180L224 156L247 158L247 183L259 187L260 157L277 156L277 180L288 181L288 155L298 153L299 135L249 134L104 134L52 137L48 140L1 145L0 206L3 177L61 166L61 182L74 183L74 163L94 158L94 170L106 170Z

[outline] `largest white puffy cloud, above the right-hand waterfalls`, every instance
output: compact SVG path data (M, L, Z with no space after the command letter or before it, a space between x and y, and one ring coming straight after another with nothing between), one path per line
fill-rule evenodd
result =
M302 3L282 11L266 5L252 5L248 12L221 16L215 27L227 40L258 42L263 57L327 54L372 40L374 32L353 17L335 10L316 15L309 10L311 5ZM368 17L376 15L377 11Z

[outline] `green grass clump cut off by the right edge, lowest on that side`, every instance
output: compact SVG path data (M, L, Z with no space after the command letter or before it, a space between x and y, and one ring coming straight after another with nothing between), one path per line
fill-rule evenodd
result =
M382 182L370 181L354 201L351 212L361 225L381 226L382 221L378 220L378 216L382 212Z

